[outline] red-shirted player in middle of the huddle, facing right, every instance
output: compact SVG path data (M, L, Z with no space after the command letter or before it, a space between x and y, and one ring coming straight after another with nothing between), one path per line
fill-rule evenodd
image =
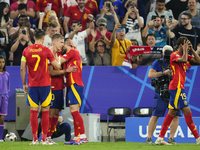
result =
M52 46L49 47L54 55L54 58L59 60L62 57L62 48L64 46L64 37L61 34L54 34L52 37ZM56 128L58 118L60 116L60 111L64 109L64 97L63 89L64 84L64 74L76 71L76 66L69 66L67 69L56 70L51 64L48 66L49 74L51 76L51 90L52 90L52 101L49 109L49 130L47 134L47 140L53 145L57 145L51 136Z

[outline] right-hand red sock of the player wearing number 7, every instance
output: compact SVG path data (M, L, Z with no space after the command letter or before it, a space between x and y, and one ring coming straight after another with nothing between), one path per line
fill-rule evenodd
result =
M42 111L41 128L42 128L42 141L46 141L49 128L49 111Z

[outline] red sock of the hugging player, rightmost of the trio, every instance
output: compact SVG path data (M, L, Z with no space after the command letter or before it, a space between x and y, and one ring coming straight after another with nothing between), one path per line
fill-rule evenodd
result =
M74 115L74 116L73 116ZM73 118L74 119L74 122L76 123L77 125L77 128L79 130L79 133L80 134L85 134L85 128L84 128L84 123L83 123L83 118L82 116L80 115L80 113L78 111L75 111L73 112Z

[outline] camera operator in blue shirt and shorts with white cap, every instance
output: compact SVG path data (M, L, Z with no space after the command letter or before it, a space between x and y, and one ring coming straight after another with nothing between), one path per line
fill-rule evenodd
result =
M152 144L152 135L156 128L158 118L164 116L166 108L168 107L168 101L170 96L168 93L169 92L168 86L170 82L170 70L167 69L167 66L169 65L169 60L170 60L170 54L171 54L170 51L173 51L171 46L166 45L163 47L164 57L162 58L162 61L155 60L148 74L149 78L157 78L157 79L152 79L152 84L154 83L155 86L155 96L154 96L153 112L148 124L148 138L146 140L147 144ZM166 63L167 60L168 63ZM165 85L167 85L167 87L164 87ZM181 112L178 110L176 117L173 119L170 125L170 137L168 139L168 143L176 144L173 137L179 124L179 116L181 116Z

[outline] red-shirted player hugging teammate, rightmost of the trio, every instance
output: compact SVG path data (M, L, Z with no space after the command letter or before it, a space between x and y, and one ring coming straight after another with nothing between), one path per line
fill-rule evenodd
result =
M64 47L67 52L61 57L61 63L67 62L68 66L77 66L76 72L66 74L67 79L67 93L66 105L69 106L71 115L74 119L74 139L70 140L66 145L80 145L88 141L85 135L85 128L83 118L79 113L81 106L81 98L83 95L83 81L82 81L82 62L79 51L69 38L65 39Z

